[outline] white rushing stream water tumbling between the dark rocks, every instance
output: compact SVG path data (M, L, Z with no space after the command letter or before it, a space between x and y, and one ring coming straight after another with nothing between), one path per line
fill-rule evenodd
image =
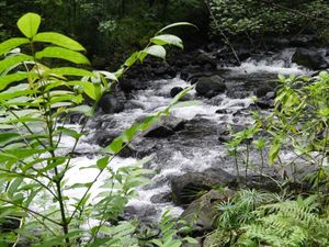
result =
M167 138L137 138L134 143L135 146L140 145L155 153L149 168L157 171L151 183L140 188L139 197L129 202L129 205L134 205L137 211L140 211L141 217L157 217L168 207L172 207L174 213L181 212L180 207L173 207L170 202L151 202L154 195L170 192L170 178L186 171L202 171L209 167L232 171L231 160L227 158L224 145L218 142L218 134L226 128L227 124L246 126L251 122L250 111L253 104L251 96L254 89L252 85L266 83L266 80L275 79L277 74L305 74L305 70L296 65L291 65L288 60L291 53L291 49L286 49L275 56L249 59L239 67L223 69L228 91L234 92L231 96L223 93L212 99L202 99L196 96L195 91L191 91L188 98L200 100L201 104L171 111L172 117L186 121L184 130ZM79 157L72 160L72 169L66 175L68 183L89 182L97 176L97 169L81 169L95 164L99 158L94 155L101 148L95 144L95 136L118 135L136 120L168 105L171 101L169 92L173 87L185 88L189 85L179 77L151 81L147 90L133 92L134 98L129 100L124 112L99 114L90 121L89 134L81 139L76 150ZM243 87L238 89L240 86ZM223 113L216 113L217 110L223 110ZM71 147L72 144L73 139L71 138L63 141L64 147ZM136 157L117 157L111 162L111 167L115 169L120 166L133 165L137 160ZM101 180L105 178L104 175ZM99 187L100 183L97 183L92 192L101 190ZM67 195L81 197L83 191L84 189L71 190Z

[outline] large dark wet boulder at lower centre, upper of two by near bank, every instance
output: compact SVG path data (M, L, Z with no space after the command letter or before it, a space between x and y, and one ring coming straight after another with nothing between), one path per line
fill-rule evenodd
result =
M202 172L186 172L171 180L172 199L177 205L188 205L201 191L214 187L234 187L236 177L223 169L209 168Z

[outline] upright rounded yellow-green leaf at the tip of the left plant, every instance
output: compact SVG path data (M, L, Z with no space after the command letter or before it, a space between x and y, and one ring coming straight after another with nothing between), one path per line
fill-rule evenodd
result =
M26 37L33 37L38 30L41 23L41 16L36 13L26 13L18 21L20 31Z

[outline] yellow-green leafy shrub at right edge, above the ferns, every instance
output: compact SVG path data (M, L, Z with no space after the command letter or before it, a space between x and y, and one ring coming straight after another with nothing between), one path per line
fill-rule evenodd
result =
M280 158L282 147L291 148L297 158L303 158L308 166L316 166L318 175L322 173L314 181L316 184L328 181L325 171L329 138L328 93L328 72L320 72L315 78L280 76L274 112L261 121L272 139L270 165ZM294 159L282 165L296 162Z

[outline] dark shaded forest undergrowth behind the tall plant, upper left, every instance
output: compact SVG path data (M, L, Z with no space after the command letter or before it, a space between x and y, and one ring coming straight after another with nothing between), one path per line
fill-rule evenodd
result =
M0 5L5 12L0 16L1 40L16 34L14 20L25 12L36 12L47 20L45 29L77 38L86 44L95 66L114 65L113 69L147 45L146 37L169 23L191 21L207 25L206 9L200 0L1 0Z

